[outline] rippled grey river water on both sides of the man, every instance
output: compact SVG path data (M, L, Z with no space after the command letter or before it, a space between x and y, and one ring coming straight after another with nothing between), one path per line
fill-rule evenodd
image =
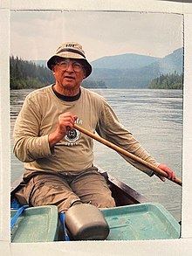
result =
M141 145L156 158L166 163L182 179L182 91L148 89L94 89L113 107L120 121ZM10 131L25 96L31 90L10 91ZM11 148L13 142L11 139ZM113 149L94 143L95 163L103 170L127 183L150 200L162 204L181 220L182 188L170 181L161 182L135 169ZM11 154L11 182L23 172L20 163Z

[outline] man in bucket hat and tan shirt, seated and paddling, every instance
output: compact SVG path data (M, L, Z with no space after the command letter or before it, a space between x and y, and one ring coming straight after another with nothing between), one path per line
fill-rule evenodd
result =
M14 153L24 162L24 187L17 192L21 204L55 204L67 211L72 204L91 203L97 207L115 206L106 181L93 166L93 140L73 128L74 123L141 157L168 173L166 165L147 154L124 128L106 100L83 87L92 73L82 46L61 45L48 60L55 84L30 93L17 116ZM123 156L127 162L154 173ZM160 176L163 180L163 177Z

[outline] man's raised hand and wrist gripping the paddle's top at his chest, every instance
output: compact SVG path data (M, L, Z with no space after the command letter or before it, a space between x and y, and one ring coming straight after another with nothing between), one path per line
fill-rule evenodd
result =
M71 112L58 115L57 128L49 135L50 149L54 147L54 145L61 139L63 139L68 131L73 128L74 122L77 120L77 118L77 115L73 115Z

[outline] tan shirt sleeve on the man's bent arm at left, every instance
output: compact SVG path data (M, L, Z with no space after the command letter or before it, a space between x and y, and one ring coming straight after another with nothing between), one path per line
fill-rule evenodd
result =
M51 156L48 135L40 135L41 113L39 104L27 97L17 116L13 138L13 152L22 162Z

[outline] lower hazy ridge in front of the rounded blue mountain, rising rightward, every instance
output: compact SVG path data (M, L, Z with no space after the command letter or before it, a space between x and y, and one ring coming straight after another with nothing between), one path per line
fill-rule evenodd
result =
M182 73L183 48L176 49L164 58L138 68L107 69L104 66L101 64L99 68L93 66L93 73L87 78L87 82L104 80L109 88L147 88L150 81L162 73Z

